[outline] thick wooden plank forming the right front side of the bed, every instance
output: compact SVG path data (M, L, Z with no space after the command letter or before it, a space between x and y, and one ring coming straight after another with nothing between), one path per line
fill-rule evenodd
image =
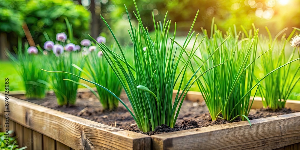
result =
M252 128L247 121L234 122L151 138L154 149L276 149L300 143L300 112L254 119L251 124Z

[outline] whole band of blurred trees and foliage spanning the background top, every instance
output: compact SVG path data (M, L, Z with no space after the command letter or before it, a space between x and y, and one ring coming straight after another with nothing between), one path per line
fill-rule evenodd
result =
M271 33L281 29L299 27L299 0L136 0L144 26L153 30L152 12L156 20L162 20L168 10L168 19L177 22L178 35L184 35L199 9L195 30L200 27L210 30L212 17L221 31L226 31L235 24L251 29L254 23L266 34L268 26ZM67 17L73 25L75 38L86 38L86 33L96 38L98 35L109 36L100 15L110 23L116 32L120 32L120 41L125 43L127 37L128 18L125 7L134 21L135 11L132 0L1 0L0 31L9 33L7 40L13 45L16 36L25 37L22 23L26 22L33 39L42 44L45 41L43 31L54 38L58 32L64 32ZM275 35L275 34L274 34ZM124 37L122 37L124 36Z

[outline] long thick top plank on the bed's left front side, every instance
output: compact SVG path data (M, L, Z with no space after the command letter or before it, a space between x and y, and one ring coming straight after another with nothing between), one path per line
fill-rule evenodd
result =
M0 106L4 95L0 94ZM10 97L10 119L73 149L150 149L150 136ZM0 107L0 112L3 108Z

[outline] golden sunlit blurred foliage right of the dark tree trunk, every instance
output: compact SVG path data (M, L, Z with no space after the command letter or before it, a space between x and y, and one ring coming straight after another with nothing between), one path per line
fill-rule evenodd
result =
M101 1L106 2L107 0ZM114 9L111 11L114 19L127 18L124 4L129 12L135 10L131 0L108 2L110 5L114 5ZM143 17L143 23L149 29L153 29L152 11L155 19L161 20L168 10L168 19L173 23L177 22L178 31L183 31L185 34L198 9L196 31L201 31L200 27L210 30L212 17L215 17L215 23L222 31L226 31L233 24L239 29L241 29L240 25L252 29L251 24L254 23L263 34L266 34L265 26L270 28L271 33L278 33L285 27L289 27L289 31L291 31L291 27L300 26L299 0L139 0L137 4ZM131 13L131 17L134 18L133 13Z

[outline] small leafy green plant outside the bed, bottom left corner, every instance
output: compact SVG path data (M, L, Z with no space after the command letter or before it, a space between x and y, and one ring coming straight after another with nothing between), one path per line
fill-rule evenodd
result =
M16 141L16 137L11 137L12 134L13 134L13 131L0 132L1 150L23 150L23 149L27 149L27 146L18 148L19 145L18 145L18 142Z

